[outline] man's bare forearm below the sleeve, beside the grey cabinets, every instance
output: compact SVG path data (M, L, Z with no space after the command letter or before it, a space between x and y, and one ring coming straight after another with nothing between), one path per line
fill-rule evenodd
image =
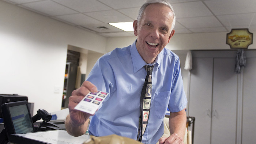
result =
M186 130L186 123L187 123L187 114L185 109L177 112L177 113L170 113L170 119L169 119L169 127L170 127L170 133L176 133L178 136L180 136L182 139L185 135Z

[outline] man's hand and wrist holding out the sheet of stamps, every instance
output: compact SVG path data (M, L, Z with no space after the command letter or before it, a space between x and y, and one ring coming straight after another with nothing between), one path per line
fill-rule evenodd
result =
M76 110L75 106L78 105L78 103L82 101L84 96L86 96L89 92L96 91L97 87L95 87L94 84L89 81L85 81L80 88L72 92L68 103L69 115L67 116L65 122L65 126L69 134L79 136L86 132L89 117L91 115Z

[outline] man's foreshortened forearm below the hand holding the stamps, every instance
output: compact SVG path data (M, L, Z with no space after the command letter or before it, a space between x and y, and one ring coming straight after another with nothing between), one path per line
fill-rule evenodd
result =
M72 120L70 119L70 116L68 115L65 121L66 130L72 136L76 136L76 137L81 136L82 134L86 133L89 120L90 119L88 119L82 125L76 125L72 122Z

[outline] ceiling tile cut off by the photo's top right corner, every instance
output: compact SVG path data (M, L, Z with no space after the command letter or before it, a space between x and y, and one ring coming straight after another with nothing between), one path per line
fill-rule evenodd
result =
M256 12L256 0L205 0L215 15Z

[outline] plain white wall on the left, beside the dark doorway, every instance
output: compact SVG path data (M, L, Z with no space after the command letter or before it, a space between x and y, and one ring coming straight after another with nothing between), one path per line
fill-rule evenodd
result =
M34 114L58 111L68 45L105 53L105 43L105 37L0 1L0 94L28 96Z

